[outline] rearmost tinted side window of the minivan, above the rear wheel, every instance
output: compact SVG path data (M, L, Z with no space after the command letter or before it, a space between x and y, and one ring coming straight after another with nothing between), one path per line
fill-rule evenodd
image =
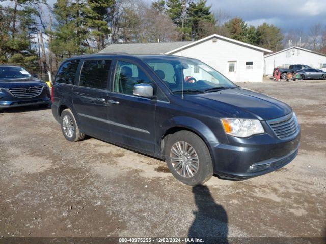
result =
M79 59L64 63L56 75L55 82L64 84L75 84L76 71L79 65Z

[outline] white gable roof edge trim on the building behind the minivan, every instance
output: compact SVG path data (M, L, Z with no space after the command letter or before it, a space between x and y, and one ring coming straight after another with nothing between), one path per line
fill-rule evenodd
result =
M199 39L198 41L191 42L191 43L188 43L188 44L186 44L184 46L181 46L181 47L178 47L178 48L173 49L171 51L168 51L165 54L173 54L175 52L178 52L178 51L187 49L189 47L195 46L195 45L197 45L199 43L202 43L202 42L207 41L207 40L212 39L212 38L222 39L222 40L225 40L225 41L234 43L234 44L238 44L238 45L241 45L241 46L244 46L244 47L252 48L252 49L263 51L263 52L269 52L269 53L272 52L271 50L268 50L268 49L265 49L265 48L257 47L257 46L254 46L254 45L251 45L251 44L248 44L248 43L245 43L245 42L240 42L240 41L237 41L237 40L228 38L228 37L224 37L224 36L220 36L220 35L217 35L217 34L213 34L213 35L210 35L208 37Z

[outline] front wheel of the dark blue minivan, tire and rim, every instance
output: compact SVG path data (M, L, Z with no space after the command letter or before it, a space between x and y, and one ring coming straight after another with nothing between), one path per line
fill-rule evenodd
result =
M184 184L196 186L212 177L209 150L196 134L178 131L169 135L164 151L170 172Z

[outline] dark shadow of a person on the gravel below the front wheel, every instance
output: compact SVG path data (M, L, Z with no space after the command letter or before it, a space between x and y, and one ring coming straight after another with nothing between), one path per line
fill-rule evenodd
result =
M198 210L188 231L188 238L204 243L228 243L228 215L222 205L216 204L208 187L199 185L192 190Z

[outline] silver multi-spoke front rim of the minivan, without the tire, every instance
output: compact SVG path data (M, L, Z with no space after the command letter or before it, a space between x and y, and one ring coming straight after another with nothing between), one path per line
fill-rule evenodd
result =
M198 172L199 158L196 150L185 141L173 144L170 160L174 170L184 178L192 178Z

